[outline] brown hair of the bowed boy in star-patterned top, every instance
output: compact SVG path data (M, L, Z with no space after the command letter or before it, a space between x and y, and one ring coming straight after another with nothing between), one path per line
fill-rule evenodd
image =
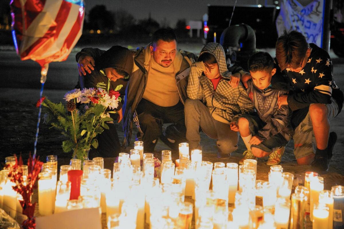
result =
M302 33L292 30L285 31L276 42L276 58L283 71L288 66L300 67L300 63L306 55L308 43Z

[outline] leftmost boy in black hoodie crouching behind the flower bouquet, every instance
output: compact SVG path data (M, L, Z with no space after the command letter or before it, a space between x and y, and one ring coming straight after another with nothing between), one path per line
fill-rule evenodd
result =
M79 77L75 88L103 88L110 96L119 96L117 114L111 114L118 123L122 119L122 100L125 95L129 74L133 68L133 51L121 46L112 46L95 60L96 66L91 73ZM115 124L108 123L109 129L97 136L98 148L90 151L92 156L117 157L120 142Z

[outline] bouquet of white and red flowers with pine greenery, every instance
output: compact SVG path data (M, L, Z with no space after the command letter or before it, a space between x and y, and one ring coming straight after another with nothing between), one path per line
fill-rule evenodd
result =
M113 121L109 113L116 113L111 110L118 107L119 94L110 94L102 88L74 89L64 96L66 107L45 97L36 106L42 104L47 108L45 123L50 123L67 138L62 142L63 151L73 151L73 158L83 161L88 159L91 145L98 147L95 137L109 129L106 123Z

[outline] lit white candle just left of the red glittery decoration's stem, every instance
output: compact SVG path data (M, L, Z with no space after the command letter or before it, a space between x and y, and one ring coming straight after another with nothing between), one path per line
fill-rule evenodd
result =
M4 186L2 209L15 219L15 214L17 212L17 192L13 190L12 186L15 186L15 184L9 180Z

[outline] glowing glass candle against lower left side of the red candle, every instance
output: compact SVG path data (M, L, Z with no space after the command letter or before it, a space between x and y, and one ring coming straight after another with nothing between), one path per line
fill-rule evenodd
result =
M67 210L67 202L71 196L71 182L58 181L56 185L56 201L54 213Z

